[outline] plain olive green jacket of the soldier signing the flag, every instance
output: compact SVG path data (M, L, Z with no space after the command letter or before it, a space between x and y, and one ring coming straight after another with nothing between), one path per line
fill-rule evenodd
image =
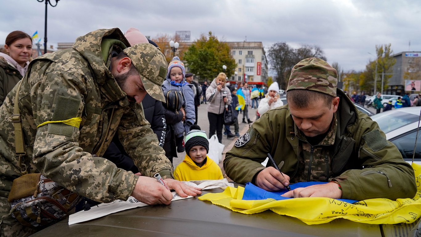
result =
M337 94L340 104L331 137L312 146L294 124L288 105L269 110L226 153L226 175L237 183L253 182L270 153L277 164L285 162L281 171L291 183L337 180L345 199L414 197L410 164L376 122L359 112L343 92Z

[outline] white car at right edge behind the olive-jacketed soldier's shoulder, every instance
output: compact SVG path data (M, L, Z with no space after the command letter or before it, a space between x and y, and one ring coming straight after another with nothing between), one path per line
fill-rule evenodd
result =
M421 107L406 107L388 110L371 116L380 129L386 134L386 139L397 146L403 159L412 162L419 126ZM418 132L414 162L421 164L421 131Z

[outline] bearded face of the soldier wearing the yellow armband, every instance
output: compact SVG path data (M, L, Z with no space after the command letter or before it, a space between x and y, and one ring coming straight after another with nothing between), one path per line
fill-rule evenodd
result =
M130 101L136 103L142 102L147 92L136 69L134 69L134 71L131 69L126 73L118 73L117 75L114 75L114 78L123 92L127 94Z

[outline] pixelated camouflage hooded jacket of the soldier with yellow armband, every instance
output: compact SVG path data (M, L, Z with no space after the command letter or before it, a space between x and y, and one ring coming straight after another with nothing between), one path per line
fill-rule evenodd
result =
M129 102L108 69L110 49L117 43L129 46L119 29L96 30L77 38L71 49L38 57L29 65L18 94L29 172L41 172L99 202L127 199L138 180L101 158L115 133L142 175L159 172L171 178L173 172L141 106ZM3 197L21 175L11 120L16 89L0 108ZM77 127L61 122L37 127L77 117L82 118Z

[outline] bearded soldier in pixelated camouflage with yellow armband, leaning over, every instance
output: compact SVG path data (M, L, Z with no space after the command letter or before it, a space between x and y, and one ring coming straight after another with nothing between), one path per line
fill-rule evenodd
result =
M173 180L172 165L139 104L146 94L164 101L166 73L159 49L149 43L130 47L117 28L90 32L72 48L34 59L0 108L0 234L34 232L13 220L7 202L13 179L25 170L98 202L133 196L168 205L172 194L150 178L156 173L182 197L200 194ZM16 96L26 145L21 162L12 122ZM101 157L115 134L143 176Z

